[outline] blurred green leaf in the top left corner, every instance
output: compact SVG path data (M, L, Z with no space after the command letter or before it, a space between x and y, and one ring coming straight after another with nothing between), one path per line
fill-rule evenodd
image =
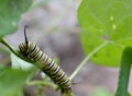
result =
M0 38L16 31L23 12L32 4L32 0L0 1Z

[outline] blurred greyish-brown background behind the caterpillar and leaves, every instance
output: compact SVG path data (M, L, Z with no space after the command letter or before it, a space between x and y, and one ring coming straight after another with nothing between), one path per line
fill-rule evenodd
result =
M29 39L50 57L58 58L59 65L70 75L85 58L77 21L80 1L34 0L32 8L22 15L16 33L7 36L6 39L18 48L24 40L23 29L24 25L28 25ZM0 62L10 65L10 57L0 52ZM118 84L118 68L99 67L89 61L74 79L73 82L77 84L74 84L72 89L76 96L112 96ZM40 79L40 75L35 75L34 79ZM132 79L130 85L131 81ZM132 94L132 86L129 91ZM35 86L26 86L24 93L25 96L35 96ZM59 95L51 87L47 87L44 94Z

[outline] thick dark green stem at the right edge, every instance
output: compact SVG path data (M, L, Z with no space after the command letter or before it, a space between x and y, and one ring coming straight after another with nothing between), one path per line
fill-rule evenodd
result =
M132 47L127 47L122 55L119 83L118 83L116 96L127 96L128 94L131 63L132 63Z

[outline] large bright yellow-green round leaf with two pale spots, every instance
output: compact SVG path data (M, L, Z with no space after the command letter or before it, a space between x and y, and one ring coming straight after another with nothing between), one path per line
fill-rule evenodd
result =
M78 20L86 55L108 41L91 61L107 67L119 65L124 47L132 46L132 0L82 0Z

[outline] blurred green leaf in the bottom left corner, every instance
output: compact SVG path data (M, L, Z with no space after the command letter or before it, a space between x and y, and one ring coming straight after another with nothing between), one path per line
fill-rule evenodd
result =
M0 95L19 96L30 71L0 69Z

